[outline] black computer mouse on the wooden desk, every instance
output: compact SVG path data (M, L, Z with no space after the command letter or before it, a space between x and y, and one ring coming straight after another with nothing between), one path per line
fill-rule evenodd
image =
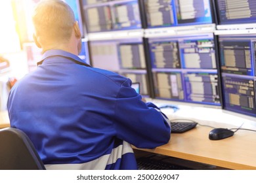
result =
M209 139L210 140L221 140L226 139L228 137L232 137L234 135L234 131L226 128L215 128L210 131Z

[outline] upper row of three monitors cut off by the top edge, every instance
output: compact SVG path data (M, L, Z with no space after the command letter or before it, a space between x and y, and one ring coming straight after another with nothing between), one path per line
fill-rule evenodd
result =
M253 0L82 0L87 33L198 24L253 24Z

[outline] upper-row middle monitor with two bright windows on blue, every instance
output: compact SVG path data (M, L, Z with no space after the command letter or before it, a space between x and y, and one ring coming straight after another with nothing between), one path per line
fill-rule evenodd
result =
M144 0L147 27L212 24L209 0Z

